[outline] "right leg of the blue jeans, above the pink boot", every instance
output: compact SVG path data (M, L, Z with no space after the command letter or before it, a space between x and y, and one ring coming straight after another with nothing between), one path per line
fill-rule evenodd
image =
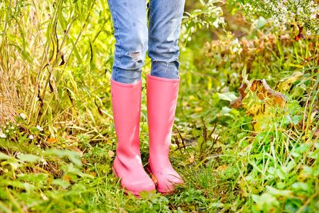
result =
M179 78L179 32L185 0L151 0L149 6L149 58L151 75Z

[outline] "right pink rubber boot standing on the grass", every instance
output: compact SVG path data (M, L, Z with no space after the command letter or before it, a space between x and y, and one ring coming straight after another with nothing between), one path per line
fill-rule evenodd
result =
M147 118L149 123L148 171L157 179L157 190L170 193L182 184L181 176L172 168L168 153L174 123L179 79L147 75Z

